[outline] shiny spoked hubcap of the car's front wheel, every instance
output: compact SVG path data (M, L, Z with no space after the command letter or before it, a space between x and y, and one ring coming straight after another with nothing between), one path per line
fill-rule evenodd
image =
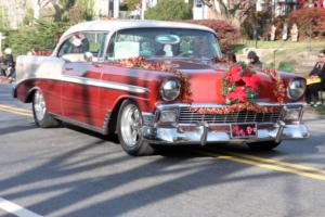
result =
M121 136L125 143L133 148L141 138L142 118L140 110L133 105L127 105L121 116Z

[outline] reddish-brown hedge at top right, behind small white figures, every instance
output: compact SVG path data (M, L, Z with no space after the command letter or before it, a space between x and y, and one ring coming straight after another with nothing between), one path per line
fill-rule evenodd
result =
M289 29L292 24L298 25L299 38L301 39L308 38L310 34L312 37L325 38L325 9L300 9L286 16L276 17L272 24L276 26L277 39L282 38L280 33L282 33L285 22L288 23ZM268 33L270 33L270 27L264 31L264 35Z

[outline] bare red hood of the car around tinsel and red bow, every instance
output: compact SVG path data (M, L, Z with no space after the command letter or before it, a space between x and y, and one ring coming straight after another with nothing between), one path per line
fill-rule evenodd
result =
M195 60L164 60L164 63L186 74L190 78L193 103L225 103L222 95L222 78L227 72L227 64L211 64ZM277 84L265 73L256 71L260 77L257 102L277 103L274 91ZM285 87L297 74L278 72ZM290 102L289 99L285 99Z

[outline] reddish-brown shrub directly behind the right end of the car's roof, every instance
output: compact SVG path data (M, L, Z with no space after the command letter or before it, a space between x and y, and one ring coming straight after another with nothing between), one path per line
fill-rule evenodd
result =
M231 23L221 20L191 20L184 21L191 24L198 24L212 28L217 33L217 38L223 52L230 50L230 44L240 37L239 30Z

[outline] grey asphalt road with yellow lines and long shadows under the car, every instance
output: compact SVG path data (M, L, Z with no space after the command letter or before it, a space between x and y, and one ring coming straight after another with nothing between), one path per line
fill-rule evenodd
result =
M10 91L0 85L0 216L325 215L323 116L306 116L310 139L272 152L210 145L132 157L116 138L37 128Z

